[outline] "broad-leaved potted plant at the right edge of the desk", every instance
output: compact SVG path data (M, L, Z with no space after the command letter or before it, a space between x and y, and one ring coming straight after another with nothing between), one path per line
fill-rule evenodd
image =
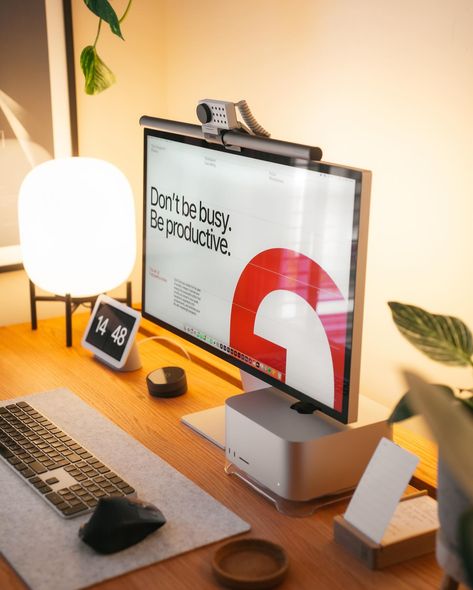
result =
M401 334L429 358L473 367L473 336L458 318L389 302ZM439 445L437 560L448 575L473 588L473 396L471 389L431 385L406 373L409 390L389 421L420 413Z

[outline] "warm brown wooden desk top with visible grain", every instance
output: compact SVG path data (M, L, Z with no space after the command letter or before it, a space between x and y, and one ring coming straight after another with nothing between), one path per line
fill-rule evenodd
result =
M57 387L68 387L84 401L132 434L142 444L251 523L247 535L284 546L290 571L282 590L416 590L438 588L441 571L434 555L373 572L333 542L332 521L343 503L307 518L279 514L243 482L223 471L221 450L179 422L183 414L222 404L239 393L238 371L198 347L153 327L153 332L182 343L191 362L161 341L139 347L143 368L114 373L92 360L80 346L87 315L74 317L74 346L64 345L64 320L43 320L36 332L29 324L0 328L0 398L8 399ZM144 329L149 325L144 322ZM139 335L139 339L144 337ZM186 395L159 400L148 395L145 376L151 370L179 364L187 372ZM197 549L97 586L100 590L220 588L210 569L217 545ZM24 589L0 559L0 588Z

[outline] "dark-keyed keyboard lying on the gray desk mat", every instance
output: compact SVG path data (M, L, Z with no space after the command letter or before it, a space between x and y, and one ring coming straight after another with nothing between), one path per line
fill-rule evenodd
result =
M58 514L91 512L134 488L26 402L0 406L0 457Z

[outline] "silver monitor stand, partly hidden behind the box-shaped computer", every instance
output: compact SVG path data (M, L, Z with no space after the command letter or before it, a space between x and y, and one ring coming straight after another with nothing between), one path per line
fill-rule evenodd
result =
M240 369L241 382L245 393L269 387L267 383ZM182 416L183 422L198 434L225 449L225 406L209 408Z

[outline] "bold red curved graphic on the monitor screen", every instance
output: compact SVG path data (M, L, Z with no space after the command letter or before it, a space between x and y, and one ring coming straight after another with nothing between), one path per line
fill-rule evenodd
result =
M233 294L230 346L286 375L286 349L254 333L262 300L277 290L296 293L316 313L319 302L344 297L325 270L293 250L272 248L257 254L243 269ZM318 313L330 346L334 374L334 409L342 410L347 313Z

